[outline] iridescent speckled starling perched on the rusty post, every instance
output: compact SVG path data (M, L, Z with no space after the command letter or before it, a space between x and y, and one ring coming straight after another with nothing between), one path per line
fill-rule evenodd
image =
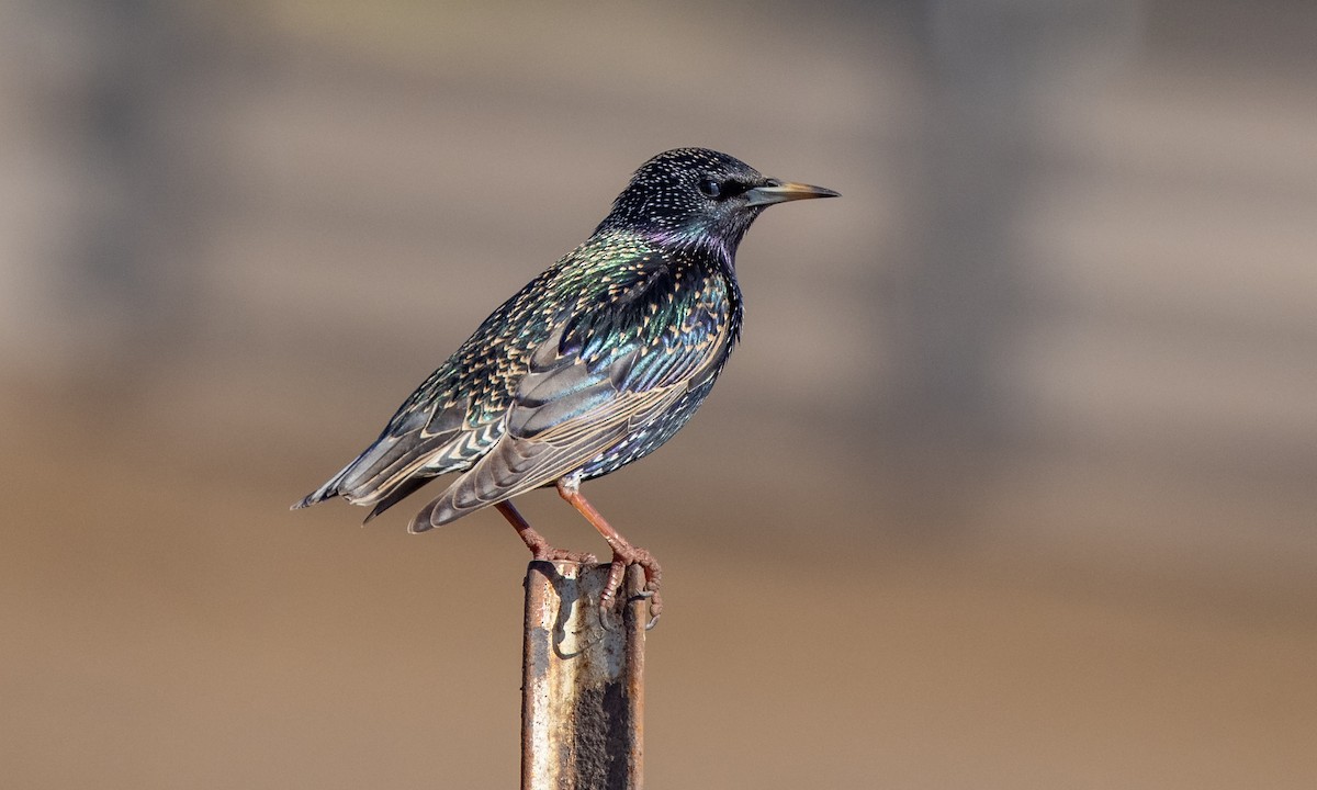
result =
M612 550L602 603L640 565L653 625L657 560L622 537L581 483L658 449L705 402L740 340L736 249L760 213L836 196L710 149L657 154L583 244L485 319L370 446L292 508L341 496L370 507L370 521L456 473L410 532L493 506L535 560L594 562L551 545L512 504L553 486Z

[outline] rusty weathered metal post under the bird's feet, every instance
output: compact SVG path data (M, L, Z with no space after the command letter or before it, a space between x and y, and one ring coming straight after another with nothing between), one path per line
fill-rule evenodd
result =
M522 669L522 790L644 785L647 602L640 567L602 610L608 566L531 562Z

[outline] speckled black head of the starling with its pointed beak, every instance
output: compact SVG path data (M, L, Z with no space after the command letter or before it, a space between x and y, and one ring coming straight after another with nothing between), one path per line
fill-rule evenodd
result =
M835 196L823 187L766 178L727 154L673 149L636 170L599 230L633 230L664 241L710 245L730 258L765 207Z

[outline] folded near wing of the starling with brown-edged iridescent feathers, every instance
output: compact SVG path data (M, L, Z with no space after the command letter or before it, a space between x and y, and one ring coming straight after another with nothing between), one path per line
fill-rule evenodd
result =
M446 524L570 474L715 375L734 340L718 274L662 266L554 327L529 357L494 448L412 521Z

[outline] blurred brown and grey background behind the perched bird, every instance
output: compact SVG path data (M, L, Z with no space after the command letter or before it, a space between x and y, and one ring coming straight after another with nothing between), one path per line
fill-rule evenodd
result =
M3 17L4 786L515 786L512 531L287 507L685 145L844 198L587 486L649 786L1317 786L1317 5Z

